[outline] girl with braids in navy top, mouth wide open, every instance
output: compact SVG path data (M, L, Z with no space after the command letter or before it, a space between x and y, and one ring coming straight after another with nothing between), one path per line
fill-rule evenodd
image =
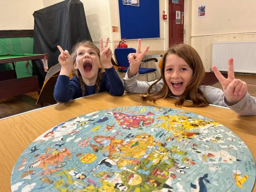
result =
M81 41L73 46L72 56L57 46L61 53L58 58L61 70L54 89L56 101L67 102L103 91L114 96L123 95L123 83L111 63L108 41L109 38L103 45L100 39L100 50L91 41ZM69 80L71 71L73 77Z

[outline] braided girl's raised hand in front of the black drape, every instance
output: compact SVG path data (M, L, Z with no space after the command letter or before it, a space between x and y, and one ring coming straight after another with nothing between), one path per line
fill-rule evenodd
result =
M57 47L60 51L58 61L59 61L59 64L61 64L62 66L59 74L69 76L73 66L71 55L69 54L68 50L64 51L61 46L57 45Z

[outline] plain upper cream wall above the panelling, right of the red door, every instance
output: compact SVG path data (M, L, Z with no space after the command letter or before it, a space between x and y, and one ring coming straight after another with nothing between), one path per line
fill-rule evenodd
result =
M192 36L248 33L256 30L255 0L192 0ZM198 18L198 6L206 17Z

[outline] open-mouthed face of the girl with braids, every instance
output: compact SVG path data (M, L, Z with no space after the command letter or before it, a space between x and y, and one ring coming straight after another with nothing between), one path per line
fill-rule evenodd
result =
M86 85L95 85L97 74L101 68L100 57L93 47L80 45L76 52L74 69L78 69Z

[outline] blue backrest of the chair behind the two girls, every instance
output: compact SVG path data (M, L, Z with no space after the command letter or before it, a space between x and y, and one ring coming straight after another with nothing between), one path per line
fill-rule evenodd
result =
M116 63L119 67L129 67L128 55L129 53L135 53L134 48L116 48L114 50Z

